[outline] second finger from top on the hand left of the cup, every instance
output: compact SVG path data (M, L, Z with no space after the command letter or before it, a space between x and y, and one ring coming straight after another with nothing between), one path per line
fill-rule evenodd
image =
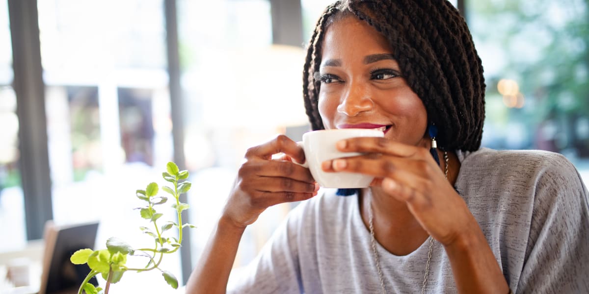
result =
M258 176L278 176L301 182L315 183L309 169L290 161L252 161L247 171Z

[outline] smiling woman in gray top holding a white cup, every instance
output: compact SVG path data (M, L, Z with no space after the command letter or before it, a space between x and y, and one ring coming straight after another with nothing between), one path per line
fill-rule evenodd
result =
M250 148L189 293L224 293L246 226L271 205L310 198L235 292L589 292L587 189L556 153L479 149L481 61L447 1L330 5L304 83L313 129L385 132L338 142L366 155L322 166L375 181L316 196L309 171L291 162L305 160L295 142Z

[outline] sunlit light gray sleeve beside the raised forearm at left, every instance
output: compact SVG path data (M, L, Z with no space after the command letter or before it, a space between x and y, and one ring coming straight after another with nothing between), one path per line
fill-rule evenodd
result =
M302 293L294 234L300 206L289 213L256 258L240 270L239 276L231 278L227 293Z

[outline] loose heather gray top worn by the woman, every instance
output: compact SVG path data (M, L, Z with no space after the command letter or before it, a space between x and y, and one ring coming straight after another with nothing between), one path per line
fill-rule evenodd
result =
M557 153L458 154L456 190L485 233L514 293L589 293L587 188ZM370 233L357 196L300 203L233 284L236 293L380 293ZM406 256L377 244L387 293L420 293L429 239ZM231 292L231 290L230 290ZM454 293L444 248L434 243L426 293Z

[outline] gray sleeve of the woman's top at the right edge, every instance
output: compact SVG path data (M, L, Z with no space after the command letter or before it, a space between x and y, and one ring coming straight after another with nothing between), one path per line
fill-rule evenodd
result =
M552 153L538 168L527 256L515 293L589 293L588 192Z

